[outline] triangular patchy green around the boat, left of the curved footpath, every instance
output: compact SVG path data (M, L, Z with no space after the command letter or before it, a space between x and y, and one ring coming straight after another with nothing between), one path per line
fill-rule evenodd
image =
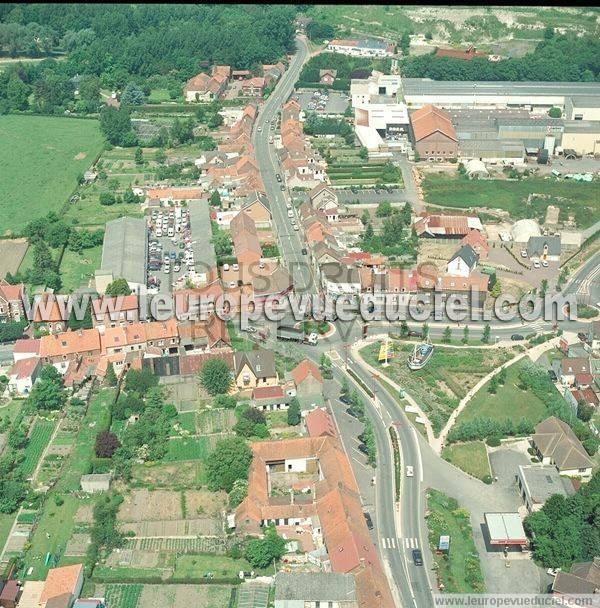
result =
M382 367L378 361L380 344L374 342L365 346L360 351L361 356L378 369L382 376L387 376L407 390L429 417L435 434L439 434L469 389L514 355L510 349L454 349L436 346L427 365L411 372L406 361L414 348L413 344L393 341L394 356L388 367Z

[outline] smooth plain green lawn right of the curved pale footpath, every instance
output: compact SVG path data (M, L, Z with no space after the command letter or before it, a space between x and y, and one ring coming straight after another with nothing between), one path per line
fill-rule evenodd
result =
M473 418L491 418L492 420L521 420L527 418L537 424L546 415L546 405L532 392L522 391L517 387L519 370L523 360L517 361L507 369L506 383L492 395L488 385L482 386L460 413L457 425Z

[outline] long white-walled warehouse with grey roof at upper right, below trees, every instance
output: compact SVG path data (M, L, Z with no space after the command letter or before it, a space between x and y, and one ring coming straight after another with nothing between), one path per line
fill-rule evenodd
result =
M415 108L431 103L442 108L547 110L553 106L565 108L567 103L574 104L575 107L584 103L588 107L590 98L600 99L600 82L490 82L403 78L402 89L406 104ZM567 102L567 99L570 101ZM584 99L587 101L584 102ZM587 114L589 112L585 118L588 118Z

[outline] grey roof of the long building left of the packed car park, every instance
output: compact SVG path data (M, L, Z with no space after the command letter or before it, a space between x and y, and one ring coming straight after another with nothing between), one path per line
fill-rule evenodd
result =
M146 220L121 217L106 222L102 270L130 283L146 283L148 236Z

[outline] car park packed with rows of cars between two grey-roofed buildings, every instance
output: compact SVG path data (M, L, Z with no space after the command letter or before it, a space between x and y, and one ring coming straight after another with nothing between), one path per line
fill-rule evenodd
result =
M173 206L152 211L148 251L148 289L170 293L194 267L188 210Z

